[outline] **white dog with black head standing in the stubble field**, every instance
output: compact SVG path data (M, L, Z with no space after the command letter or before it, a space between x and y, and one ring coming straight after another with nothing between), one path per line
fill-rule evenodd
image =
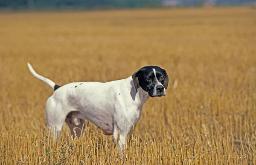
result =
M30 72L54 90L46 103L47 128L53 131L53 139L61 134L64 122L74 135L81 136L85 121L102 128L105 135L113 135L117 142L120 131L119 150L125 145L125 136L140 120L143 104L148 98L166 95L168 86L166 70L146 66L132 76L110 82L73 82L63 86L38 75L28 63ZM116 144L117 145L117 144Z

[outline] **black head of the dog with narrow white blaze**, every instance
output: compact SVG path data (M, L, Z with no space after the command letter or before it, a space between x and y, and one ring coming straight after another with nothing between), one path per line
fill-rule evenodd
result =
M132 75L132 79L136 92L141 87L152 98L166 95L169 79L166 71L160 67L143 67Z

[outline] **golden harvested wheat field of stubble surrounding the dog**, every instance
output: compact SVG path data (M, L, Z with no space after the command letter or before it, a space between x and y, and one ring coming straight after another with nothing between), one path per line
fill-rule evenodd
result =
M256 10L140 9L0 14L1 165L256 164ZM92 123L54 145L45 103L58 85L166 69L124 157Z

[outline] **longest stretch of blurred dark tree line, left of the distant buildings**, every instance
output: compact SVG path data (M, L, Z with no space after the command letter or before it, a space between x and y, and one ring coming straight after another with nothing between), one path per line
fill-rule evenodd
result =
M136 8L159 6L157 0L0 0L0 8Z

